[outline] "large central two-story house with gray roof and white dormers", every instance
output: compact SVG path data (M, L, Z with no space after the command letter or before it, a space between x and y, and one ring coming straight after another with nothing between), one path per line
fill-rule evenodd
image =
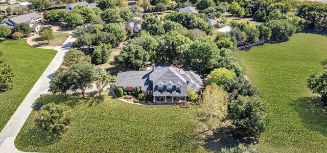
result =
M188 90L193 88L196 93L202 90L200 76L192 71L183 71L173 67L155 68L149 71L127 71L118 73L116 89L135 91L136 87L142 90L145 96L153 96L153 102L179 103L186 100Z

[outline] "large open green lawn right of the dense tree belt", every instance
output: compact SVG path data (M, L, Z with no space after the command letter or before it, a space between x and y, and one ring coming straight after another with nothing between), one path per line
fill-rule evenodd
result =
M267 107L262 152L326 152L327 112L306 80L322 72L327 37L295 34L289 41L234 52Z

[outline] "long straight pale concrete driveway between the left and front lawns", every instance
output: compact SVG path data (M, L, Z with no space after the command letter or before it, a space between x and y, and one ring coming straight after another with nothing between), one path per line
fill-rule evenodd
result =
M26 119L32 111L32 104L42 94L48 94L49 81L54 76L60 67L63 56L69 48L72 47L75 38L68 37L62 46L58 46L55 50L58 51L48 68L45 69L41 77L34 84L29 94L19 105L15 113L11 116L5 128L0 133L0 152L22 152L15 147L15 138L18 135L21 127L24 125Z

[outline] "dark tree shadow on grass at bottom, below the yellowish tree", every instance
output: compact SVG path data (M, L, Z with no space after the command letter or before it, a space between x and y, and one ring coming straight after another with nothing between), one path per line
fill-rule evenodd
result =
M241 143L249 145L254 142L254 139L237 139L233 137L231 128L226 127L217 129L212 134L207 135L202 146L208 151L219 152L222 148L235 147Z

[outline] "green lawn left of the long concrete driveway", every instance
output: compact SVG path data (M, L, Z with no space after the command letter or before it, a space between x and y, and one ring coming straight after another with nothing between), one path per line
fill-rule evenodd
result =
M25 39L0 43L3 56L13 70L13 88L0 93L0 131L29 93L35 82L57 53L55 50L34 48Z

